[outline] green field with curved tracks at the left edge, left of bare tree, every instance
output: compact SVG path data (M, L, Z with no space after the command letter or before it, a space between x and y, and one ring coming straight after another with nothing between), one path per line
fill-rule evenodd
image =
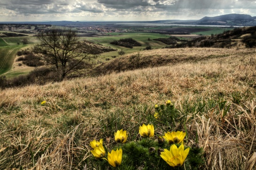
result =
M11 69L16 53L22 45L16 46L2 46L0 47L0 74L6 73Z

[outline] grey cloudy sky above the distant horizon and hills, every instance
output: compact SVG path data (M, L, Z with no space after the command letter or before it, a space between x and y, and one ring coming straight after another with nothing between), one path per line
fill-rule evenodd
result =
M256 16L256 0L0 0L0 22L154 21Z

